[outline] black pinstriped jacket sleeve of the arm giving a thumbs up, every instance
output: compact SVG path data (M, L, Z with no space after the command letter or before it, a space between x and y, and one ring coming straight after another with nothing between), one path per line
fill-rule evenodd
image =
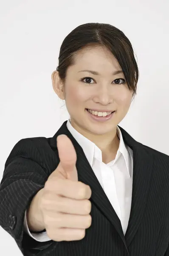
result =
M20 140L9 154L0 183L0 226L25 256L35 256L54 241L39 242L24 232L25 210L44 187L49 171L31 138Z

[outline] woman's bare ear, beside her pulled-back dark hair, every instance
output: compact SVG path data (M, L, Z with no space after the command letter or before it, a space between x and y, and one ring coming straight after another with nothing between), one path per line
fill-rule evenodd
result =
M55 70L52 73L52 85L54 88L55 93L58 95L60 99L65 99L64 91L63 91L63 83L60 80L59 72Z

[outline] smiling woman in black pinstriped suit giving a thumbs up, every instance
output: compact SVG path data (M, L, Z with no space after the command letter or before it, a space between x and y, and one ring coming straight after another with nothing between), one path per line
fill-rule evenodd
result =
M83 24L63 41L52 82L70 119L20 140L0 186L0 225L23 255L169 256L169 156L118 126L137 81L114 26Z

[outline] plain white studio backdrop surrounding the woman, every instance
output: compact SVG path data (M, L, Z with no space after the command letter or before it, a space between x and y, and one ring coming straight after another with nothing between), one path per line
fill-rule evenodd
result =
M169 154L169 0L0 0L0 180L22 138L53 137L68 113L51 73L59 47L82 23L110 23L138 58L138 95L120 123L139 142ZM20 256L0 227L0 254Z

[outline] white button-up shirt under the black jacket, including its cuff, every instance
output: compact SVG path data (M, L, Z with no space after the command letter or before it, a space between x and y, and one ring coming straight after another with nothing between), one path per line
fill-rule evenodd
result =
M120 129L117 127L118 138L120 139L119 148L115 159L110 163L102 162L102 153L93 142L88 140L78 131L76 131L70 124L70 120L67 122L67 128L79 145L82 147L85 156L90 163L99 183L104 189L107 198L112 204L118 218L121 221L121 226L124 232L124 236L127 230L131 201L132 201L132 177L133 177L133 152L132 149L124 144L124 140ZM24 230L37 241L49 241L51 240L46 232L42 233L30 233L28 224L26 221L26 212L24 220Z

